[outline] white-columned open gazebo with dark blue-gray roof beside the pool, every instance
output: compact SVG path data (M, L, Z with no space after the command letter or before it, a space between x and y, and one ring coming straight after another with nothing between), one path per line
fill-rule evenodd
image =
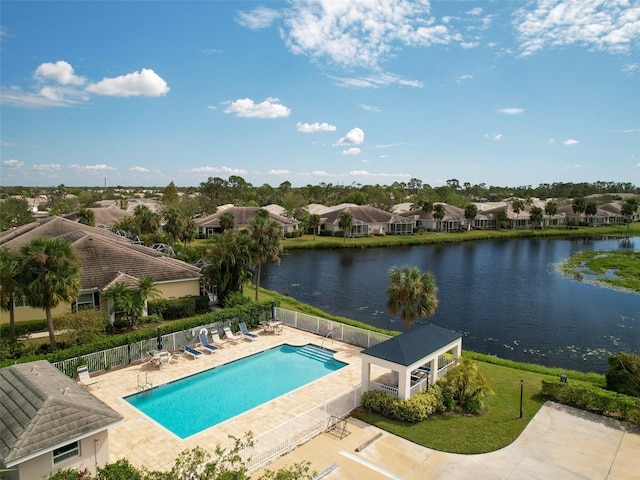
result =
M461 353L459 333L436 325L417 325L361 352L362 391L383 390L407 399L445 375ZM371 365L391 370L390 384L372 381Z

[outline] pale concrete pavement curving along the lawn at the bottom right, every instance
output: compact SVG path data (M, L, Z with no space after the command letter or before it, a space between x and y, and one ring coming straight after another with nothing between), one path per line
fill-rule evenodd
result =
M511 445L480 455L431 450L355 419L348 429L343 439L322 434L266 468L309 460L328 480L640 478L640 429L553 402Z

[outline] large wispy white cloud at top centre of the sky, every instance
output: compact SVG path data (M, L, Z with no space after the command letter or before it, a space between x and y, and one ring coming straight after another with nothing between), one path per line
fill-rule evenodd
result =
M294 54L374 70L402 46L460 40L436 23L428 2L412 0L298 2L286 12L281 35Z

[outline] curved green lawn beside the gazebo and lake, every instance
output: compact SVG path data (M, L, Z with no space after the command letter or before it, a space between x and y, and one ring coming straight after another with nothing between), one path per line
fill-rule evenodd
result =
M548 375L516 370L485 362L495 395L485 398L486 412L479 416L437 415L420 423L403 423L381 415L354 413L354 417L414 443L451 453L484 453L513 442L545 402L541 381ZM524 380L523 418L520 418L520 380Z

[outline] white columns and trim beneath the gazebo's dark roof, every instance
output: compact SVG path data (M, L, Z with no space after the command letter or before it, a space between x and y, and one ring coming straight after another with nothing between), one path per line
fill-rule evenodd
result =
M362 391L366 392L369 390L371 384L371 365L376 365L382 368L387 368L398 376L398 398L406 400L411 396L411 372L416 370L418 367L428 365L430 368L428 373L429 383L435 383L438 380L438 358L440 355L449 351L453 351L453 357L455 359L460 358L462 355L462 337L445 345L435 352L429 353L409 366L398 365L397 363L393 363L388 360L362 354Z

